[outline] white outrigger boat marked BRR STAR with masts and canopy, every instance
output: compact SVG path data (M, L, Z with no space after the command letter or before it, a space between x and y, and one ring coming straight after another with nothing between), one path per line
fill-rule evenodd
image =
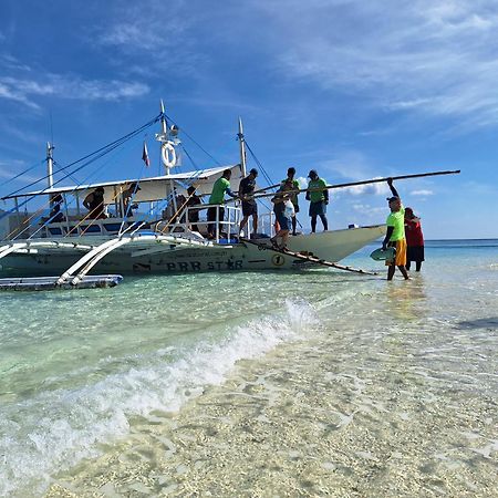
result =
M32 191L24 188L1 198L12 201L13 207L0 211L0 274L51 276L50 282L56 287L81 286L90 272L105 273L106 281L112 281L110 276L113 274L291 270L301 269L303 263L317 266L328 261L335 264L385 234L384 225L375 225L299 235L290 237L289 251L283 252L268 247L269 237L273 235L270 209L260 214L260 232L256 239L239 238L241 209L236 203L224 206L226 219L217 218L216 236L208 239L209 222L203 218L209 205L193 208L183 200L188 198L189 186L203 196L209 195L214 183L227 168L232 173L232 190L237 191L240 179L246 176L242 123L239 120L239 163L173 173L180 141L178 127L168 120L162 104L160 114L147 123L160 125L156 134L165 168L160 176L60 186L59 183L82 170L94 157L121 145L124 138L101 148L96 156L89 155L66 166L58 181L54 181L53 147L48 144L46 187ZM142 133L144 126L127 137ZM129 211L124 205L124 193L129 186L135 186L131 200L134 207L138 206L136 211ZM82 212L80 207L81 200L97 187L104 189L106 215L101 219L94 219L86 210ZM28 203L37 205L37 209L28 211ZM56 206L60 207L54 209ZM200 220L195 222L196 231L188 222L191 209L200 212ZM219 206L217 209L219 217Z

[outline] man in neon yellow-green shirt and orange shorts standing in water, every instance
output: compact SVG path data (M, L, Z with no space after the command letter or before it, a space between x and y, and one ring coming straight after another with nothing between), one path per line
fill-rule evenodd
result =
M405 208L402 205L400 195L394 188L393 179L387 178L387 185L391 188L393 197L387 197L390 204L391 214L387 216L386 225L387 232L384 241L382 242L382 249L387 247L394 247L396 249L396 256L392 260L386 260L387 267L387 280L393 280L396 267L402 272L405 280L408 280L408 272L406 271L406 239L405 239Z

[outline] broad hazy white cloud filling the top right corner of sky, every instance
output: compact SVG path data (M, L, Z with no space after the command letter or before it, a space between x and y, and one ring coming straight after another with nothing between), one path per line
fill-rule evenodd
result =
M491 0L267 2L292 41L288 77L342 89L387 111L498 124L498 3Z

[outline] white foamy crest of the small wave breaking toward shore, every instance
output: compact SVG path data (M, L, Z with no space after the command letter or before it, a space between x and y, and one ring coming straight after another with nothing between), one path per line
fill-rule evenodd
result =
M129 430L129 418L176 412L209 385L224 382L237 361L302 339L318 325L312 308L287 301L282 312L206 339L194 349L172 347L73 390L52 390L1 409L0 496L40 494L51 476L101 453Z

